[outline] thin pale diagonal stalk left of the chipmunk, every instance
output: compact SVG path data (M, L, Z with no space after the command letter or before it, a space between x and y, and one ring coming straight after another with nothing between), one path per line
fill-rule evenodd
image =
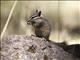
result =
M4 35L4 33L5 33L5 31L6 31L6 28L7 28L8 24L9 24L9 21L10 21L10 18L11 18L11 16L12 16L13 10L14 10L14 8L15 8L15 6L16 6L16 3L17 3L17 1L14 2L13 6L12 6L12 9L11 9L11 11L10 11L10 14L9 14L9 16L8 16L8 19L7 19L7 21L6 21L6 24L4 25L3 31L2 31L2 33L1 33L1 39L3 38L3 35Z

